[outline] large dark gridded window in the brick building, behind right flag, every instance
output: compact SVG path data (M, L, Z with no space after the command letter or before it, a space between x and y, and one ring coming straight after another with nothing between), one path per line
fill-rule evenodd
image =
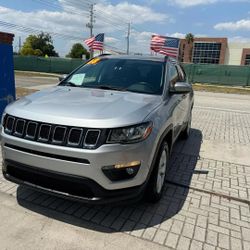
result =
M219 64L221 43L195 42L193 48L193 63Z

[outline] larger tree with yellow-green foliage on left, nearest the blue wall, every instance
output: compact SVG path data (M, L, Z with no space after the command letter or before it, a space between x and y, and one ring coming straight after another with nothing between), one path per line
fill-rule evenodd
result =
M29 35L21 49L21 55L58 56L52 38L49 34L41 32L38 35Z

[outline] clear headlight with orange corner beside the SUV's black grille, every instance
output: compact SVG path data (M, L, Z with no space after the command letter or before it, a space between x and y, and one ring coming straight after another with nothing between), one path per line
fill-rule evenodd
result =
M143 141L150 135L152 129L152 122L112 129L109 133L107 143L134 143Z

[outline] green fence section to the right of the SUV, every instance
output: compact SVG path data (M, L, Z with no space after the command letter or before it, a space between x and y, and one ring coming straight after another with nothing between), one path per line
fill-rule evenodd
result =
M216 64L184 64L192 83L250 86L250 67Z

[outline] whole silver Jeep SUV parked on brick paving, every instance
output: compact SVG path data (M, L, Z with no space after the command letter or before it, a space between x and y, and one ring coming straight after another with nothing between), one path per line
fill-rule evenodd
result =
M169 57L96 57L2 117L6 179L89 203L158 201L193 90Z

